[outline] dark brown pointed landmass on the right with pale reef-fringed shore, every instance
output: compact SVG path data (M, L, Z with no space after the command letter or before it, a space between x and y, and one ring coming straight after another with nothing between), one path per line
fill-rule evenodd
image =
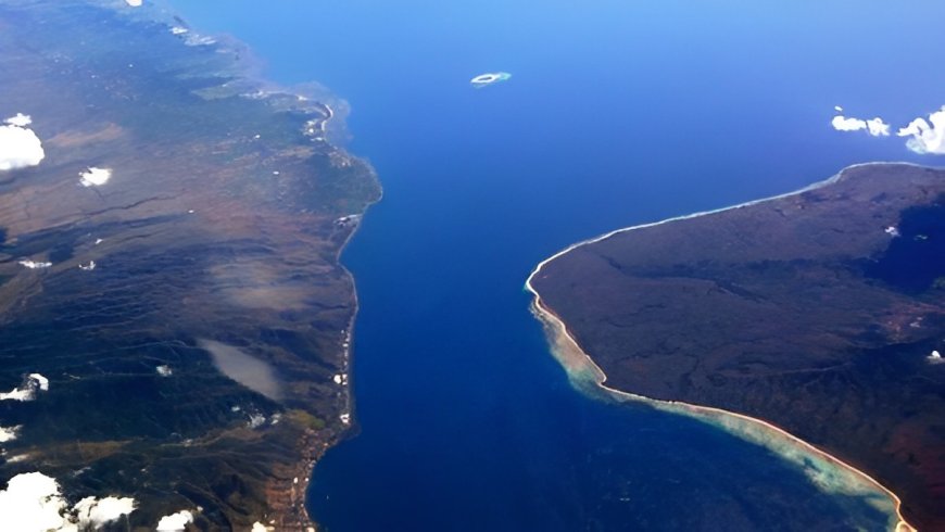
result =
M945 170L858 165L620 229L527 288L590 393L763 444L891 530L945 530Z

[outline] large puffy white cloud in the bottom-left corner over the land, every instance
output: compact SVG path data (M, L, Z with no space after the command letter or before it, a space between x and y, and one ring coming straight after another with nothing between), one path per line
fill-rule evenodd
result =
M0 530L99 530L134 510L135 501L129 497L86 497L70 507L55 479L40 472L17 474L0 491Z

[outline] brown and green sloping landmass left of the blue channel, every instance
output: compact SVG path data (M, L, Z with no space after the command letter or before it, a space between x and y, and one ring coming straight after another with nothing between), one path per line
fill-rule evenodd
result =
M150 16L0 2L0 119L32 115L46 150L0 173L0 389L50 379L0 402L0 426L23 426L0 482L39 470L73 501L134 496L142 530L198 506L202 529L301 528L311 461L350 409L346 216L380 190L323 140L327 107L240 96L257 90L244 52ZM81 187L89 166L111 180ZM270 367L279 393L225 377L202 340Z

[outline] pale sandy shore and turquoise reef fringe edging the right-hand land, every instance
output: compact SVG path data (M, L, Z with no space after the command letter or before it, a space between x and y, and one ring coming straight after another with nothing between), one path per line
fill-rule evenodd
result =
M751 443L761 445L772 453L777 454L782 459L785 459L802 469L811 481L821 490L843 493L847 495L858 495L869 501L874 508L890 515L890 530L894 532L918 532L918 529L909 524L902 514L902 501L890 489L885 487L879 481L870 477L864 471L850 466L840 458L805 442L804 440L791 434L790 432L765 421L764 419L753 418L743 414L715 408L705 405L684 403L679 401L663 401L647 397L632 392L617 390L606 385L607 376L600 366L585 353L575 337L568 330L567 324L558 317L554 312L545 306L541 299L541 294L532 286L532 279L538 276L542 268L554 261L582 245L592 244L606 240L615 235L619 235L635 229L644 229L671 221L682 219L696 218L701 216L717 214L734 208L742 208L759 203L765 203L782 198L790 198L802 194L810 190L816 190L821 187L829 186L843 178L846 170L871 165L885 164L905 164L920 167L912 163L862 163L847 166L834 176L802 189L753 200L736 205L731 205L710 211L704 211L682 216L667 218L660 221L640 224L635 226L616 229L598 237L583 240L571 244L554 255L545 258L536 266L528 276L525 282L525 289L532 294L531 312L536 318L542 322L545 333L551 345L552 354L562 364L568 373L571 384L579 391L597 398L612 400L618 402L635 402L646 404L659 410L688 416L700 421L717 427L726 432L736 435Z

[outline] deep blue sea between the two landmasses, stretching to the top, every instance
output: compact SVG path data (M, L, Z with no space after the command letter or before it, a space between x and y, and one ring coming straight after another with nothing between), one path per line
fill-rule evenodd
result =
M572 390L522 283L617 227L942 164L830 127L945 104L941 0L172 4L346 99L385 188L343 255L360 430L313 473L329 532L874 530L765 449Z

